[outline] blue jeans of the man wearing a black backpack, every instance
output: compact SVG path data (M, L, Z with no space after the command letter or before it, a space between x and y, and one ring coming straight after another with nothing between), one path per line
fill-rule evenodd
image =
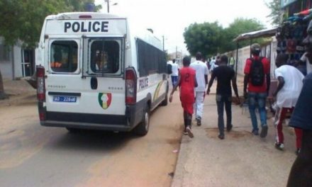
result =
M256 108L258 108L260 113L261 127L267 125L267 111L265 110L266 99L267 99L266 92L263 93L248 92L248 106L252 123L252 131L259 130L255 111Z

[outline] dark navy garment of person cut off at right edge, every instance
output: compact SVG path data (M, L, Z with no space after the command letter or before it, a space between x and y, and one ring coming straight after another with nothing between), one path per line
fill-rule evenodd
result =
M303 86L296 103L294 112L291 115L289 125L303 130L312 130L312 73L303 79Z

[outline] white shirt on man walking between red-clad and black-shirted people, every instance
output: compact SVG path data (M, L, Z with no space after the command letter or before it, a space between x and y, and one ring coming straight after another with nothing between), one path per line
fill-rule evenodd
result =
M205 75L208 76L209 74L208 67L204 62L199 60L192 62L190 67L196 71L196 81L198 86L196 87L195 91L206 91Z

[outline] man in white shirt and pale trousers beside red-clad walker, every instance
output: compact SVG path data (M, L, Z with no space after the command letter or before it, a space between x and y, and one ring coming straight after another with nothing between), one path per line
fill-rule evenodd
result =
M196 71L196 81L198 86L195 89L195 119L197 125L201 125L201 118L203 116L204 98L206 94L206 85L208 84L208 67L204 62L201 62L201 52L196 53L196 61L192 62L190 67Z

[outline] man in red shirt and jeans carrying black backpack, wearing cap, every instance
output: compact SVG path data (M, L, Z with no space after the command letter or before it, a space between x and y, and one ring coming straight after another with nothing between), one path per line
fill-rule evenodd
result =
M260 57L261 47L255 43L251 46L252 58L246 60L244 77L244 97L248 99L250 118L252 122L252 133L259 135L257 117L255 110L258 108L262 130L260 137L267 136L267 111L265 104L269 91L269 61L266 57ZM247 94L248 86L248 94Z

